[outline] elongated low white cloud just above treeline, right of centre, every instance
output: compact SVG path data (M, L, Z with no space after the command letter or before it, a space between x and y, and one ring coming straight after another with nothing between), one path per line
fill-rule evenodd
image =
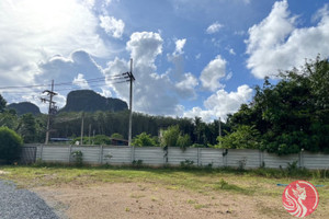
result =
M236 113L242 103L247 103L252 97L252 89L248 85L240 85L236 92L226 92L220 89L211 95L205 102L204 107L193 107L186 111L183 115L185 117L200 116L205 122L211 122L220 117L225 119L227 114Z

